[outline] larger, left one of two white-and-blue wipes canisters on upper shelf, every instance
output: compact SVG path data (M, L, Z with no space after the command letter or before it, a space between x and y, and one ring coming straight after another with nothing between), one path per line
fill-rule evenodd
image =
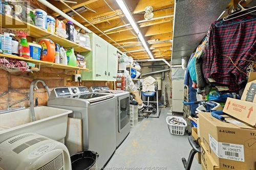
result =
M47 29L47 13L41 9L35 9L35 26L46 30Z

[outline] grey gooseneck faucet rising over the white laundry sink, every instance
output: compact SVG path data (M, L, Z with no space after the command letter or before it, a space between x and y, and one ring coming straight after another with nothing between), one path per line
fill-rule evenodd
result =
M48 96L50 96L50 90L49 87L46 85L46 83L40 79L35 79L31 82L30 88L29 88L29 104L30 104L30 113L32 117L32 122L36 121L35 117L35 109L34 109L34 89L38 90L37 83L40 82L45 87Z

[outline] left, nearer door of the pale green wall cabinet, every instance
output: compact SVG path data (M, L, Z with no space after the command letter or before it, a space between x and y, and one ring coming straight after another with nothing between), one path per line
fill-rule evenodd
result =
M108 80L108 42L95 37L95 80Z

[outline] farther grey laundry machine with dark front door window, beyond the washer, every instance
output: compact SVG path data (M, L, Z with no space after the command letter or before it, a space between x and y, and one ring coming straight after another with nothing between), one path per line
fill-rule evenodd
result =
M116 112L116 148L130 133L130 93L123 90L110 90L108 86L92 86L91 92L99 94L113 94L115 96Z

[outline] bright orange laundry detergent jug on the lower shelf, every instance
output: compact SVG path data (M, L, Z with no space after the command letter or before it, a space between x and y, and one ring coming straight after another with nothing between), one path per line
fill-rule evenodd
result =
M42 46L41 60L54 62L55 60L55 44L50 39L41 39L39 44Z

